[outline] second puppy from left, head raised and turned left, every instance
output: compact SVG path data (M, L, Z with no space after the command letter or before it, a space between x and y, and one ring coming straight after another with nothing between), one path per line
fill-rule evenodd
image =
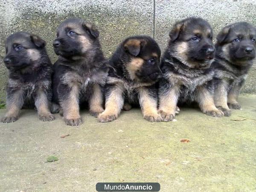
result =
M90 114L103 110L102 88L108 67L99 43L99 32L91 23L70 18L58 26L54 51L53 101L59 103L67 125L82 123L79 105L89 104Z

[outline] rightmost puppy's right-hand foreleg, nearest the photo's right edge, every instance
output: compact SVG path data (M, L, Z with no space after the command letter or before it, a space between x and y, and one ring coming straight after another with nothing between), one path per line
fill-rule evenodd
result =
M239 83L235 84L232 89L227 94L227 103L230 109L241 109L241 105L237 102L241 85Z

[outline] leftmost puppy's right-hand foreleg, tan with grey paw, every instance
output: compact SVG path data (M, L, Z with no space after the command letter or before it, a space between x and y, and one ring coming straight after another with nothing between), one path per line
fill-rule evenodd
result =
M49 110L49 102L46 93L39 89L35 98L35 107L38 111L38 117L42 121L53 121L54 115Z

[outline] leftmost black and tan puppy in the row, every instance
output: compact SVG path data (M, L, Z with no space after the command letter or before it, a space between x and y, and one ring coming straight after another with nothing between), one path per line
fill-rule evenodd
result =
M9 70L7 113L1 122L15 122L21 108L34 108L39 119L52 121L52 64L45 50L45 41L37 35L17 32L6 40L4 63Z

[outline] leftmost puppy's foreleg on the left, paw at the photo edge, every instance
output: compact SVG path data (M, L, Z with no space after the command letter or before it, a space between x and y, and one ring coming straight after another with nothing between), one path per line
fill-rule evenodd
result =
M23 90L7 90L7 112L0 122L15 122L19 118L20 109L23 106Z

